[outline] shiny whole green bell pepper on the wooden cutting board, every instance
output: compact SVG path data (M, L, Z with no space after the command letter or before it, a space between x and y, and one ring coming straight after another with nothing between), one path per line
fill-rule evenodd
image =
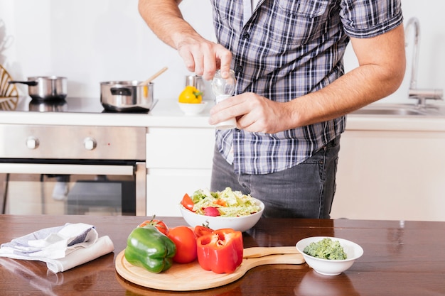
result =
M129 234L125 259L152 273L171 268L176 245L153 225L137 227Z

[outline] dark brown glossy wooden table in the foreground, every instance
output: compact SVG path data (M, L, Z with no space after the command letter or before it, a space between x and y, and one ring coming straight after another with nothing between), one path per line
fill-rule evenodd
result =
M308 265L265 265L235 283L198 292L152 290L129 283L114 269L135 216L0 215L0 243L65 222L94 224L114 242L114 253L64 273L45 263L0 258L1 295L445 295L445 222L261 219L244 233L245 247L293 246L307 236L337 236L363 247L362 258L341 275L318 275ZM182 218L161 218L170 227Z

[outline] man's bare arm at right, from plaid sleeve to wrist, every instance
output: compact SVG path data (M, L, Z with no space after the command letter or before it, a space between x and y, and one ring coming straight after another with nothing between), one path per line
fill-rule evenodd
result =
M360 66L318 92L291 102L296 116L289 118L296 122L289 126L330 120L397 90L405 70L402 25L377 38L353 40L353 48Z

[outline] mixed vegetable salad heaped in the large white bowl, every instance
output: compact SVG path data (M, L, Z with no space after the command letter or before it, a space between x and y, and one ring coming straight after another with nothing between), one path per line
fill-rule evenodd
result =
M250 194L242 194L227 187L221 192L210 190L196 190L191 196L193 208L196 214L206 216L248 216L259 212L259 205Z

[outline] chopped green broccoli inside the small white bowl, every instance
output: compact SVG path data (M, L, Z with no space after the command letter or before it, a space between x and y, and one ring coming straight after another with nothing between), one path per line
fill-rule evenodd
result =
M316 243L309 243L303 250L309 256L328 259L328 260L344 260L347 258L340 242L325 238Z

